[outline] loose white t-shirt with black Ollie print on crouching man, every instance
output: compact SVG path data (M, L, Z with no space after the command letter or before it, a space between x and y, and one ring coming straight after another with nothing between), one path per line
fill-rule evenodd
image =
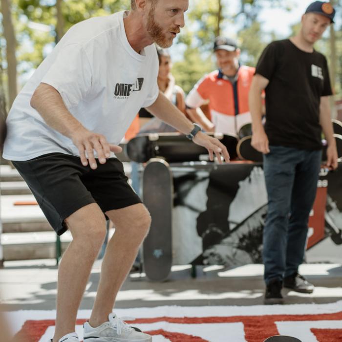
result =
M79 155L71 139L50 128L30 106L40 83L56 88L85 128L115 145L139 109L154 103L159 93L156 48L149 45L140 54L132 49L125 33L126 15L122 11L88 19L68 30L13 103L5 159L29 160L51 152Z

